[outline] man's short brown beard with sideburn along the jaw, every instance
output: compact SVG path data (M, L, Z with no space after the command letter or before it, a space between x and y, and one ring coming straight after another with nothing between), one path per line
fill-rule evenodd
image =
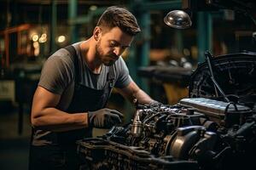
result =
M104 54L101 47L101 39L96 43L96 59L100 59L103 65L113 65L114 62L118 59L115 54Z

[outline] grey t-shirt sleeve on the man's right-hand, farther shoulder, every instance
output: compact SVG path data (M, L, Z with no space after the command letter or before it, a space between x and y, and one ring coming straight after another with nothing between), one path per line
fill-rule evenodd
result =
M117 60L116 64L116 75L117 80L114 87L116 88L125 88L131 82L131 77L129 75L129 70L125 61L122 57Z

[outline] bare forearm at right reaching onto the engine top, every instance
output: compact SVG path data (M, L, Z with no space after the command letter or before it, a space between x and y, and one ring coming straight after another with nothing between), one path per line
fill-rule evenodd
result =
M122 94L126 99L129 99L131 102L133 99L137 99L139 104L145 105L150 104L154 101L151 99L148 94L146 94L137 84L131 81L128 86L125 88L117 88L120 94Z

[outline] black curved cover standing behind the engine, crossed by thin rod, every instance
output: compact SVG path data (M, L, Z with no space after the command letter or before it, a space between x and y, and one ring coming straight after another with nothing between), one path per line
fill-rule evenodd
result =
M226 54L212 58L213 75L227 97L235 100L256 95L256 54ZM215 98L214 85L206 62L198 65L189 82L189 98ZM223 100L219 98L218 100ZM231 101L232 101L231 100Z

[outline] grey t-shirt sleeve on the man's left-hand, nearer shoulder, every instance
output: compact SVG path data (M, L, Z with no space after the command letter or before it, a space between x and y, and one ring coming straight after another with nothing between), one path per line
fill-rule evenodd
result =
M73 62L66 49L60 49L44 63L38 86L62 94L73 80Z

